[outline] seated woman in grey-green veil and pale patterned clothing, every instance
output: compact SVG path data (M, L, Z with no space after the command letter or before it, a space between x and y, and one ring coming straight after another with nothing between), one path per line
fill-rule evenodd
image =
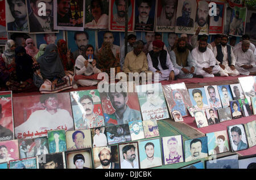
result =
M44 79L40 93L55 93L72 88L73 74L64 71L55 44L46 46L46 51L38 58L38 63Z

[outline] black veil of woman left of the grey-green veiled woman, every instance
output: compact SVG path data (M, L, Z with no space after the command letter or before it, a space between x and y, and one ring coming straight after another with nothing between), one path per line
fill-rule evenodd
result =
M19 56L18 53L24 53L24 55ZM26 53L26 49L23 46L18 46L15 49L15 63L16 63L16 73L19 81L26 81L33 76L33 59L30 55Z

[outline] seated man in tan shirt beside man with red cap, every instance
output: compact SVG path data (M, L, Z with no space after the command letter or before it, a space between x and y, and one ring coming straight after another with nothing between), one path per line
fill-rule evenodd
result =
M146 54L142 52L143 43L136 41L133 44L133 48L133 51L126 54L123 72L127 74L129 72L150 72L148 71Z

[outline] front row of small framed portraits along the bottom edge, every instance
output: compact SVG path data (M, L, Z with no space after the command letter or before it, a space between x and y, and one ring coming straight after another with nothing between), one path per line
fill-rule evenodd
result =
M183 140L181 135L176 135L161 138L161 143L159 138L155 138L111 146L98 144L101 140L95 138L97 132L92 138L92 144L90 130L48 131L48 135L42 138L0 142L0 167L9 163L11 169L35 169L36 164L38 168L45 169L51 165L55 165L55 168L57 168L56 165L59 165L59 168L62 169L66 167L68 169L102 169L102 166L108 166L111 163L111 169L154 168L200 160L208 156L229 152L229 147L231 147L232 152L247 149L249 147L248 128L253 128L253 126L255 127L255 121L245 125L228 126L228 134L224 130L189 140ZM84 132L85 134L83 134ZM256 143L254 142L253 145ZM213 161L216 160L216 156L213 158ZM152 161L153 159L154 161ZM129 161L133 162L133 165ZM229 164L230 168L237 169L237 161L232 162L232 164L226 163L225 165ZM255 159L253 162L256 162ZM214 166L209 165L209 167L219 169L224 165L219 162L217 164L214 162L214 164Z

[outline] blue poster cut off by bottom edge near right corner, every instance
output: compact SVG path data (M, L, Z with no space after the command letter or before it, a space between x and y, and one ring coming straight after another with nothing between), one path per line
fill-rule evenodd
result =
M238 155L218 157L216 163L210 160L204 161L205 169L238 169Z

